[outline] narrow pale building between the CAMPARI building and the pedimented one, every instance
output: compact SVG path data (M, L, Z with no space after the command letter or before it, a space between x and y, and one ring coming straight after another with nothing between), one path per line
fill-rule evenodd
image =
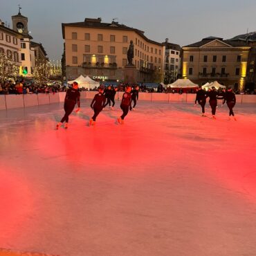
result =
M170 84L181 74L181 46L169 43L169 39L165 39L163 44L165 45L164 83Z

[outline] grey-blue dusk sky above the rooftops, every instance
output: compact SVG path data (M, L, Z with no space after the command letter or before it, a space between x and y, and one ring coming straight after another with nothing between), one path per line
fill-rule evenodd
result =
M50 60L60 60L63 52L62 23L101 17L111 23L118 18L145 31L156 42L185 46L210 35L229 39L256 30L255 0L0 0L0 19L10 23L17 15L28 17L33 41L41 42Z

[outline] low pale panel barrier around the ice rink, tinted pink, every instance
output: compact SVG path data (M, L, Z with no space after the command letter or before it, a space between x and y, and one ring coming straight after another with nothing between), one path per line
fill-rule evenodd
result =
M82 91L81 99L91 101L97 91ZM116 93L115 100L122 100L123 91ZM22 107L33 107L43 104L64 102L66 92L60 93L39 93L39 94L10 94L0 95L0 110L15 109ZM237 104L254 103L256 95L236 95ZM196 94L192 93L139 93L138 100L150 102L187 102L194 103Z

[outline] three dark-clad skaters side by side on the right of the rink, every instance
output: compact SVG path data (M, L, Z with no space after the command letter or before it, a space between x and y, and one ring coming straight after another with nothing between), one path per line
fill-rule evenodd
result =
M234 118L235 121L237 120L235 118L235 114L233 111L233 107L235 107L235 103L236 103L236 97L235 97L235 93L232 91L231 88L228 88L227 91L225 89L223 91L217 91L215 87L212 86L211 89L209 89L208 91L205 91L202 89L201 86L199 86L199 89L196 92L196 100L194 103L196 104L196 102L198 102L201 105L202 116L205 116L205 104L206 104L206 99L208 97L209 97L210 107L212 109L213 119L216 119L215 115L216 115L216 109L218 105L217 100L223 100L221 106L223 106L225 102L228 105L228 109L229 109L228 120L230 120L231 116L232 118Z

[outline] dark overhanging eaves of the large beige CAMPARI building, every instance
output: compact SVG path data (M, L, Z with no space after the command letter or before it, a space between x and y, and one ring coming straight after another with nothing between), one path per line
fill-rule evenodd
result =
M158 43L158 42L155 42L151 39L148 39L145 35L143 35L143 33L141 33L140 31L141 30L138 30L137 28L120 28L120 27L107 27L107 28L104 28L104 27L91 27L91 26L86 26L86 25L75 25L75 24L72 24L72 23L62 23L62 38L65 39L65 26L68 26L68 27L77 27L77 28L101 28L101 29L111 29L111 30L128 30L128 31L134 31L135 33L137 33L138 35L140 35L140 37L143 37L147 42L149 43L152 43L152 44L157 44L158 46L163 46L162 43Z

